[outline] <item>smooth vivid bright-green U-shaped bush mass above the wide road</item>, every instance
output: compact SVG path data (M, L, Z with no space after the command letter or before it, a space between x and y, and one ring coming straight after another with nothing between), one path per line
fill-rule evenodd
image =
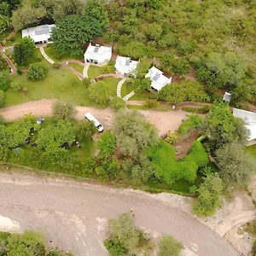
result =
M165 142L150 148L148 157L152 161L155 177L168 184L180 179L194 183L198 168L207 166L209 161L207 153L199 142L195 142L191 152L180 161L175 159L172 146Z

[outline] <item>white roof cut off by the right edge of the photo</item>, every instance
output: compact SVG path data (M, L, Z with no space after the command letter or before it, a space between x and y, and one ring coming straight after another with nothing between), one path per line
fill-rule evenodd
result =
M250 132L248 141L253 141L256 139L256 113L233 108L233 114L236 118L243 119L246 123L246 128Z

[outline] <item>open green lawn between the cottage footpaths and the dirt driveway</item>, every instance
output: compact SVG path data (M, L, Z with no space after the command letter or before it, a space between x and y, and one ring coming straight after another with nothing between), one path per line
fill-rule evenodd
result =
M19 81L28 91L24 93L23 91L8 90L7 106L42 98L54 98L82 106L102 107L90 100L82 82L66 68L49 68L46 79L40 81L27 80L26 74L15 75L14 79Z

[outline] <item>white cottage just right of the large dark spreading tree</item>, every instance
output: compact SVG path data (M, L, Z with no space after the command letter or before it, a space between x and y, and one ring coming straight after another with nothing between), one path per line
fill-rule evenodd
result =
M102 46L100 44L89 44L84 53L84 62L92 62L95 64L108 64L112 57L112 47Z

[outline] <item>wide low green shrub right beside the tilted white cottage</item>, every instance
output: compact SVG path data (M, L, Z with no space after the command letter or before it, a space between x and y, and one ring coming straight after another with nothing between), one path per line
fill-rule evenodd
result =
M179 84L167 84L160 90L159 99L172 103L204 102L207 100L207 94L201 84L186 80Z

